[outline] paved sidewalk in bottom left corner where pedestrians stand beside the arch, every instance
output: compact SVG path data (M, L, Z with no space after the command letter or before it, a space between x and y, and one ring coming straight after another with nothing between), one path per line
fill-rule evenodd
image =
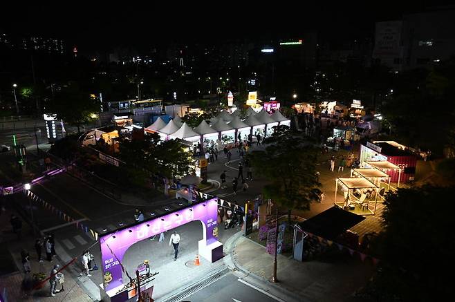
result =
M57 256L52 263L44 261L39 263L37 259L37 254L35 252L35 237L30 234L30 226L23 221L22 226L22 237L21 240L17 239L15 234L12 234L12 229L10 226L10 214L13 212L7 209L0 216L0 243L3 246L7 246L6 249L1 250L1 258L3 261L8 261L11 263L12 272L8 270L3 270L3 276L0 276L0 290L6 288L8 301L42 301L42 302L89 302L93 301L82 289L80 286L80 281L75 276L75 273L78 271L77 260L75 263L69 265L65 270L62 271L64 274L64 292L55 294L55 296L49 296L49 282L44 283L44 287L38 290L31 292L31 294L26 293L22 287L22 282L26 278L24 273L24 268L21 264L21 249L26 249L30 253L30 266L32 272L28 275L32 276L37 272L43 272L46 276L49 276L53 266L55 264L63 267L65 263ZM46 257L46 253L43 249L43 254L41 257ZM6 274L5 274L6 273ZM86 278L86 277L83 277ZM57 289L60 289L60 285L57 285Z

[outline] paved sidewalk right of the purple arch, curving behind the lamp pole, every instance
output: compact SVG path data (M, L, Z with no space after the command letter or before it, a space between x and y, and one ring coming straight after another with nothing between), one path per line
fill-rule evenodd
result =
M278 255L277 278L271 283L273 257L266 248L241 236L232 252L232 261L239 270L280 289L299 301L347 301L352 294L367 283L373 267L344 254L331 263L320 261L299 262ZM290 294L291 293L291 294Z

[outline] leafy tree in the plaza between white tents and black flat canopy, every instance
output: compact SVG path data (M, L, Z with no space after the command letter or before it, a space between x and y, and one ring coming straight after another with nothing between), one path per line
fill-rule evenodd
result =
M253 151L248 158L258 173L268 179L264 196L288 211L310 208L318 200L320 190L316 178L317 149L308 141L290 132L288 126L277 126L264 143L264 151Z

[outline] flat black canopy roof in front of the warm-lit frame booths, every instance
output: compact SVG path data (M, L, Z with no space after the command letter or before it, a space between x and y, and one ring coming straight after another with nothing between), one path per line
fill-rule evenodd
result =
M299 227L316 236L335 240L338 236L346 232L347 229L351 229L351 227L364 219L364 217L353 214L350 211L344 211L340 207L331 207L305 220L303 223L299 223Z

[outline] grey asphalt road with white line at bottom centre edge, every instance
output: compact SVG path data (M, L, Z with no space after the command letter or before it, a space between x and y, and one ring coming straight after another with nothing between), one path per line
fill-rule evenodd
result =
M281 299L275 298L267 292L248 282L239 279L234 274L229 273L221 279L215 281L202 290L185 298L189 302L277 302Z

